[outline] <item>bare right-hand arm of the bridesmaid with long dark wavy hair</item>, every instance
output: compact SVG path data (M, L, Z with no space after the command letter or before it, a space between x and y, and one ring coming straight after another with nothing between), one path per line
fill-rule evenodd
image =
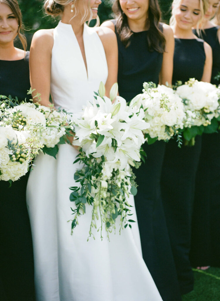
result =
M160 72L160 84L166 85L168 82L169 85L172 85L174 53L173 30L169 25L163 24L163 33L166 39L166 48L163 54L163 62Z

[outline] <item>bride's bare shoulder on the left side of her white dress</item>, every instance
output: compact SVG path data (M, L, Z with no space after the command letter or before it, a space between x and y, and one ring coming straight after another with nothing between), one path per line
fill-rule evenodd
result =
M53 30L54 29L40 29L32 39L32 47L44 47L44 49L53 48Z

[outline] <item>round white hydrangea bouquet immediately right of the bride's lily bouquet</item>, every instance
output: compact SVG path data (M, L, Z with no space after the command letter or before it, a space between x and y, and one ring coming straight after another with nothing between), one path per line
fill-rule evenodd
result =
M135 96L130 106L144 110L144 119L150 124L146 130L148 144L156 140L168 141L176 135L180 147L182 140L179 129L183 128L185 118L182 99L174 94L172 88L164 85L156 87L153 83L145 82L143 87L143 93Z

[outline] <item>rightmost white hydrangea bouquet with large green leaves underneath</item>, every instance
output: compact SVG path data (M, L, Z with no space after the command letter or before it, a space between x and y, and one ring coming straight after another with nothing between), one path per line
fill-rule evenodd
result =
M186 144L194 145L194 137L213 133L220 121L220 89L207 82L189 79L176 88L176 95L184 103L185 120L183 136Z

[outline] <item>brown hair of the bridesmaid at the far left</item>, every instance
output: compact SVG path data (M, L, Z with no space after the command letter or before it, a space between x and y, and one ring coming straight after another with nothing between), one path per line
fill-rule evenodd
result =
M17 0L0 0L0 3L4 3L8 5L11 8L11 11L15 15L17 21L18 21L18 37L21 41L21 44L23 46L24 51L26 51L27 48L27 40L24 34L21 33L21 31L24 30L24 25L22 23L22 14L20 11L20 8L18 6Z

